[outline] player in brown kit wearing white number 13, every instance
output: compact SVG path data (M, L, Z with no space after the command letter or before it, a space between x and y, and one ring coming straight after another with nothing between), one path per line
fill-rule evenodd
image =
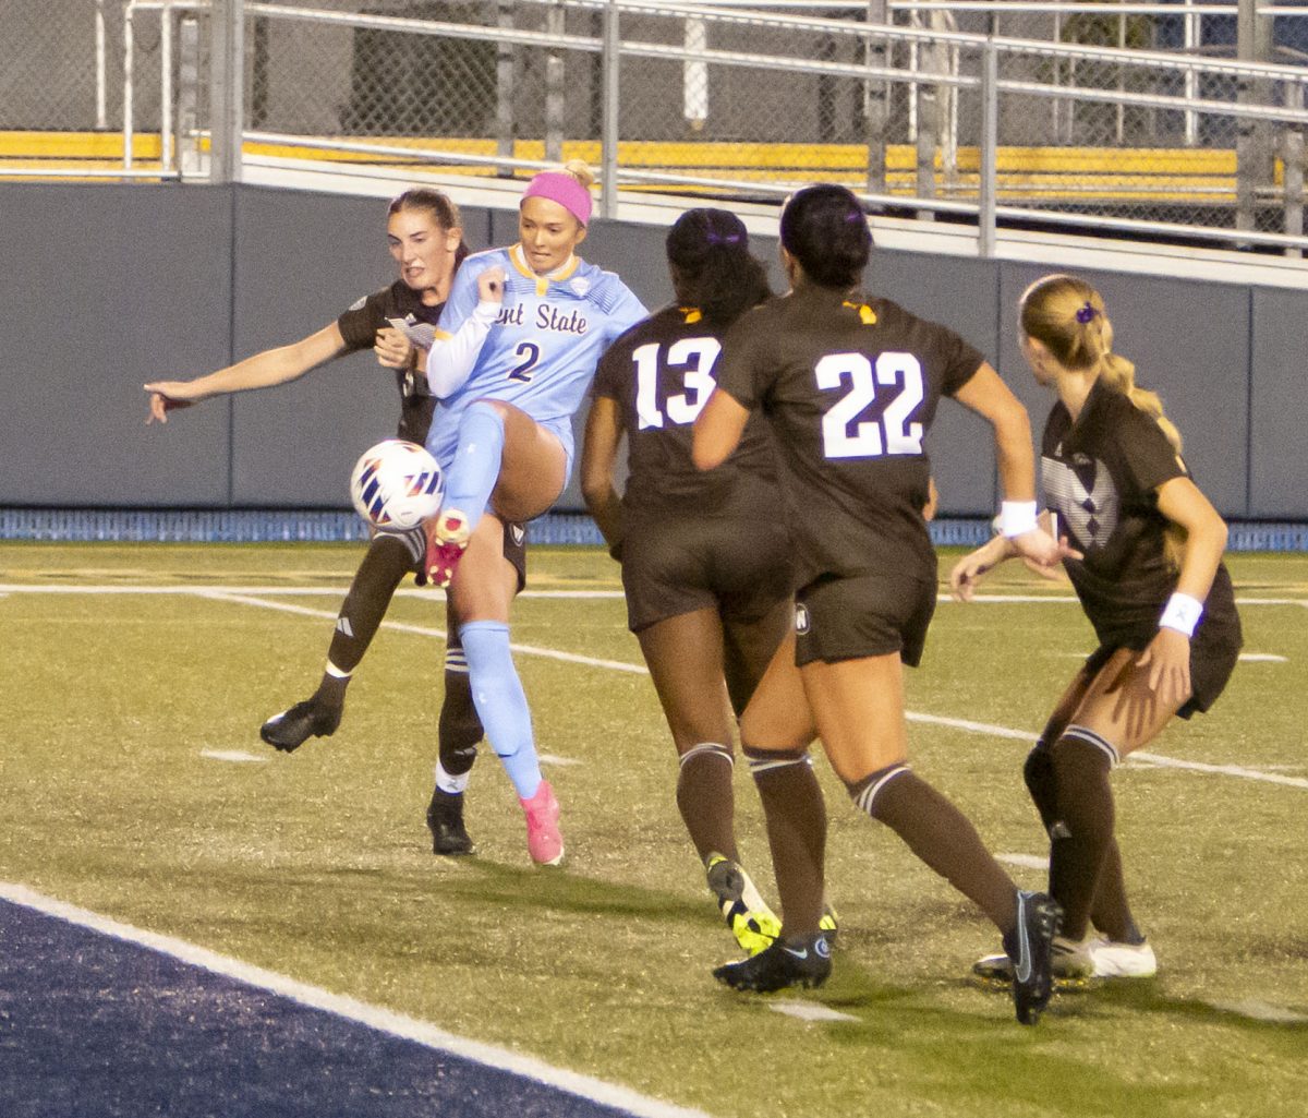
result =
M732 724L790 627L790 543L776 522L781 494L763 420L709 474L691 460L691 435L722 335L770 291L744 224L725 209L683 213L667 234L667 261L676 304L623 334L599 364L581 483L623 563L628 627L680 758L678 809L727 927L753 954L781 922L736 850ZM827 922L835 927L832 914Z

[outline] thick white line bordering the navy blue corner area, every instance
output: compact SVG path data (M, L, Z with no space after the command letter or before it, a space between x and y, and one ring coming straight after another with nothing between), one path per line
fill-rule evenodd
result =
M85 909L77 909L73 905L46 897L25 885L0 881L0 899L21 905L25 909L34 909L47 916L67 920L71 924L89 928L99 935L137 944L170 958L179 960L190 966L198 966L213 974L220 974L224 978L243 982L246 986L267 990L280 998L289 998L301 1005L334 1013L348 1021L356 1021L379 1033L415 1041L436 1051L450 1053L485 1067L508 1071L523 1079L531 1079L547 1087L581 1096L593 1102L616 1106L628 1114L640 1115L640 1118L709 1118L702 1110L675 1106L671 1102L649 1098L625 1087L604 1083L589 1075L551 1067L542 1060L519 1055L508 1049L468 1041L454 1033L446 1033L428 1021L420 1021L416 1017L408 1017L404 1013L396 1013L381 1005L370 1005L354 998L332 994L330 990L323 990L319 986L297 982L284 974L252 966L230 956L218 954L208 948L190 944L186 940L148 932L143 928L135 928L131 924L122 924L97 912L89 912Z

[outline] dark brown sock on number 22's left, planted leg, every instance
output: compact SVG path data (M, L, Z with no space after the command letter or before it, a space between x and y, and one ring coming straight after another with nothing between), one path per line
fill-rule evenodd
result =
M772 753L744 746L768 817L786 936L818 932L827 856L827 804L807 750Z

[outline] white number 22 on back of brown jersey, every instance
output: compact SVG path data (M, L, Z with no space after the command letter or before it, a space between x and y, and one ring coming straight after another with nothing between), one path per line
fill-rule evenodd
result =
M849 391L821 420L823 453L828 458L876 458L883 454L921 454L922 424L909 416L922 402L922 363L912 353L888 350L875 367L863 353L828 353L814 373L818 388L838 389L849 378ZM876 398L876 388L899 388L879 420L858 416Z

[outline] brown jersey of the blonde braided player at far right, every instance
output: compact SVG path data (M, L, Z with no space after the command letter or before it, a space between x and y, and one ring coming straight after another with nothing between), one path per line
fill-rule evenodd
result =
M1190 477L1185 462L1158 423L1103 380L1075 423L1061 401L1053 406L1040 453L1045 504L1086 556L1066 563L1086 615L1101 643L1142 648L1177 580L1163 550L1167 517L1158 509L1158 488ZM1202 624L1237 631L1224 566Z

